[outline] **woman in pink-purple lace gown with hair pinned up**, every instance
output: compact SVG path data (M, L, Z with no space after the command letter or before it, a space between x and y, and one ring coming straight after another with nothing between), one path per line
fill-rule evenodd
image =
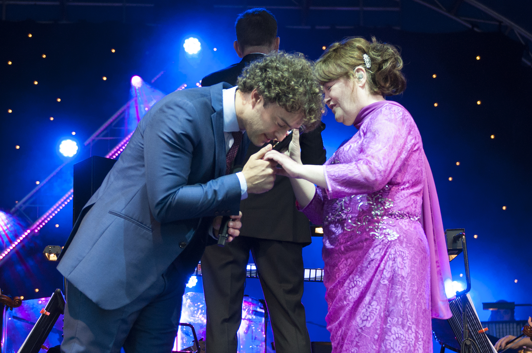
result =
M265 155L293 178L301 211L323 224L333 353L432 352L431 317L451 317L451 271L421 136L409 112L384 98L404 90L402 66L396 48L375 38L332 44L315 72L336 121L358 132L323 166L301 164L297 130L289 156Z

